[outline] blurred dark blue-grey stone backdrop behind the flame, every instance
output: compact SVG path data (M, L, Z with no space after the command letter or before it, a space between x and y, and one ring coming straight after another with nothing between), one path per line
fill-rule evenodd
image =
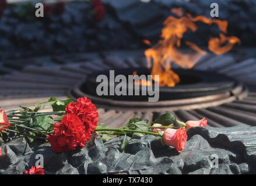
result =
M64 13L46 17L34 16L36 2L40 1L8 1L8 8L0 19L0 60L108 49L146 49L148 45L142 41L155 44L159 40L163 21L173 15L170 9L182 7L193 16L210 17L213 2L219 5L219 19L229 22L226 35L239 37L240 47L253 47L256 43L254 0L103 0L106 13L101 22L93 19L89 1L66 1ZM206 46L209 37L219 35L215 26L202 23L198 27L196 33L186 33L184 40Z

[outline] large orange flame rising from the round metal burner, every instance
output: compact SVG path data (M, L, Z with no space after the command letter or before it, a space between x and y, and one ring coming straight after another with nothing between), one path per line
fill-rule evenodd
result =
M182 16L182 9L172 9L171 12L176 13L178 16ZM181 45L181 38L183 34L188 31L197 31L197 25L195 22L203 22L208 24L216 24L220 31L227 33L226 20L212 20L205 16L192 17L189 13L186 16L176 18L173 16L167 17L164 21L164 27L162 29L162 35L160 40L155 46L145 51L145 56L148 60L148 68L151 67L151 60L153 59L153 67L151 75L159 75L159 85L174 87L180 82L178 74L171 70L171 63L191 69L195 63L198 62L202 56L206 55L206 52L200 49L196 44L185 41L185 45L192 49L190 53L182 53L178 51ZM223 45L227 42L226 45ZM226 37L224 34L220 34L220 38L211 38L208 42L209 51L220 55L222 53L230 51L234 44L240 42L239 38L231 36ZM154 80L154 78L153 78Z

